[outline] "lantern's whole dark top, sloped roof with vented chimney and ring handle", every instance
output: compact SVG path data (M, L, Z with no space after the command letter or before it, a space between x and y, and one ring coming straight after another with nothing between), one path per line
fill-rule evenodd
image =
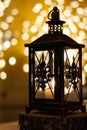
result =
M49 33L44 34L31 44L25 44L26 47L29 46L68 46L68 47L84 47L82 44L78 44L69 36L62 33L62 27L65 21L60 20L60 12L57 7L54 7L48 13L48 19L46 23L49 26Z

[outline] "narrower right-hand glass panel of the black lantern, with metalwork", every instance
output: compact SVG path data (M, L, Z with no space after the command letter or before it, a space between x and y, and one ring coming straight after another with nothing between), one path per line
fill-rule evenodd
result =
M79 49L64 50L65 101L80 101L81 67Z

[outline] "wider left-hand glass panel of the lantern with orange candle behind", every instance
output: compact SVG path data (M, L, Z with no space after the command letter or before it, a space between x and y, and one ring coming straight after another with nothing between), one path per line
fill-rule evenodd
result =
M34 53L35 98L54 99L54 51Z

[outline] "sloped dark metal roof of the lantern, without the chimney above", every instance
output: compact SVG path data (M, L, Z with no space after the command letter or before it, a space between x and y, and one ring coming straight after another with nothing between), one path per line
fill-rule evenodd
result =
M71 47L85 47L83 44L77 43L75 40L65 34L44 34L37 38L30 44L25 44L26 47L33 46L71 46Z

